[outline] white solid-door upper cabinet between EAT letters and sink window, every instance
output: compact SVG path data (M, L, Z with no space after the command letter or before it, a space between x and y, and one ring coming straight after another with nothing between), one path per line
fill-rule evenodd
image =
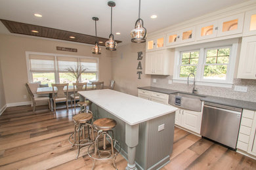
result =
M169 75L169 50L158 50L146 53L146 75Z

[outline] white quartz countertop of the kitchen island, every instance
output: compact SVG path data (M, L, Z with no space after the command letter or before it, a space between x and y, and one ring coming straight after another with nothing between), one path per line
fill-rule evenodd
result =
M171 105L163 105L110 89L78 93L131 126L178 110Z

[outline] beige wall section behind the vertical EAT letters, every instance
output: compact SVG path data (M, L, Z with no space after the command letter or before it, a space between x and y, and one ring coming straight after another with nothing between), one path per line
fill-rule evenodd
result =
M146 43L129 43L117 46L117 51L112 56L112 78L116 80L115 90L137 96L137 87L150 86L150 75L145 75L145 49ZM137 52L143 52L142 75L138 79Z

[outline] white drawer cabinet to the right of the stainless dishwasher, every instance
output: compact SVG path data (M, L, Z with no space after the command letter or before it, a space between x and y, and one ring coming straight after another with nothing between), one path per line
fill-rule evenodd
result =
M243 110L238 134L238 149L256 156L256 113L253 110Z

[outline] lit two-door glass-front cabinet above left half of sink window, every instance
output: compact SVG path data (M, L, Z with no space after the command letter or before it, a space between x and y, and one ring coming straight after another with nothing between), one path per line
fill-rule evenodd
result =
M188 27L179 31L167 33L166 46L192 42L195 40L196 27Z

